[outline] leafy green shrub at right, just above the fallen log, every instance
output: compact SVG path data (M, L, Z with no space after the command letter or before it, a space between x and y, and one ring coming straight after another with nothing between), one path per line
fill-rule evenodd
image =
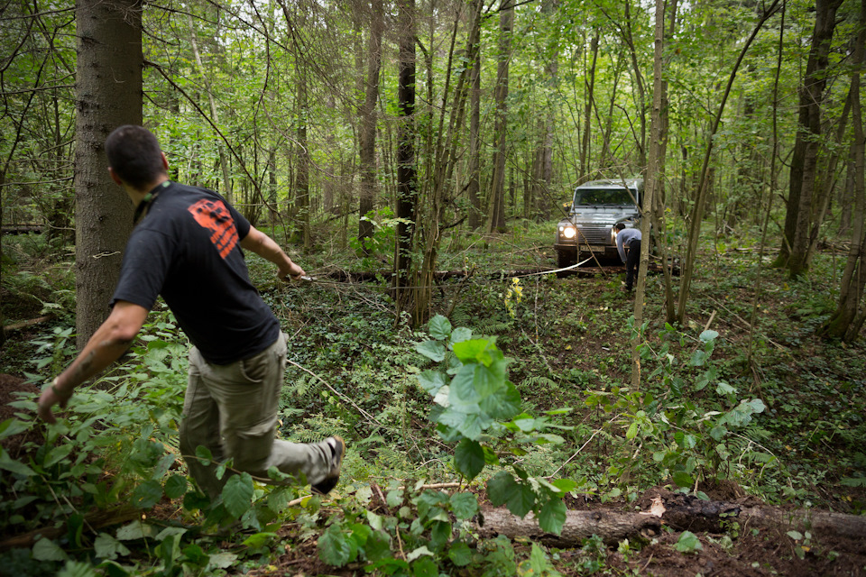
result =
M700 335L686 364L693 369L685 375L677 371L676 358L669 352L672 342L685 343L685 338L670 325L659 336L662 345L658 350L640 346L641 361L656 365L646 390L613 386L609 391L589 391L586 397L587 407L613 414L611 423L624 431L612 437L620 453L608 467L608 476L630 481L636 450L652 457L650 466L640 471L648 482L669 477L684 490L695 488L700 481L745 482L751 465L757 464L760 472L778 466L775 455L756 440L762 429L754 417L766 409L763 401L738 401L737 389L718 380L711 357L719 334L705 331Z

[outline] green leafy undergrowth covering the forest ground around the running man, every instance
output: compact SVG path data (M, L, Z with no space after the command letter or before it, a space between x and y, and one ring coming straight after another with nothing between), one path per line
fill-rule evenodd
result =
M77 393L66 419L34 420L34 387L74 353L71 267L40 237L5 238L7 324L51 320L11 334L0 363L26 380L0 418L3 566L68 575L694 575L714 574L702 559L721 567L739 555L748 557L742 574L799 574L797 562L813 574L866 571L866 552L842 564L838 547L808 531L782 532L772 548L734 522L722 536L668 530L613 546L479 535L486 508L532 511L556 534L567 509L635 511L650 490L866 511L866 355L861 342L815 337L834 311L843 254L818 253L796 281L765 268L755 309L755 240L715 239L687 324L666 323L662 277L650 273L645 324L635 327L622 267L594 277L525 273L553 268L548 235L531 225L448 236L439 269L474 274L442 281L434 312L450 314L419 329L395 316L386 275L328 276L387 270L387 254L359 259L327 244L293 254L314 280L289 285L251 259L253 282L290 337L281 435L342 435L349 451L327 498L244 473L215 503L189 484L177 453L188 344L164 307L124 362ZM641 381L631 389L635 331ZM97 527L95 511L119 517ZM30 540L9 546L22 536ZM742 554L749 547L752 556Z

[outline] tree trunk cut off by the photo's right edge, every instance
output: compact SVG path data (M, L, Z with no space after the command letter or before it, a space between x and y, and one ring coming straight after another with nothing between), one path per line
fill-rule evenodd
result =
M866 285L866 186L863 182L863 171L866 169L864 162L864 135L863 115L860 100L861 75L863 74L864 46L866 46L866 0L861 0L860 7L860 32L854 48L851 73L851 98L852 124L854 128L852 149L852 163L848 170L853 172L855 209L852 217L851 251L848 253L848 262L845 265L842 283L839 290L839 303L833 316L822 326L819 334L830 337L842 338L844 341L854 341L860 334L863 320L866 319L866 310L862 307L863 287Z

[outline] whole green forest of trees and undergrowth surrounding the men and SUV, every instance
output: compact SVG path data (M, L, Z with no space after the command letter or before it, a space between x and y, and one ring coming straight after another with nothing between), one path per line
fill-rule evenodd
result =
M866 1L10 0L0 27L15 574L866 572ZM335 495L198 495L161 304L34 420L132 229L120 124L312 277L248 259L290 335L281 435L348 441ZM547 273L574 188L635 176L634 298L619 263Z

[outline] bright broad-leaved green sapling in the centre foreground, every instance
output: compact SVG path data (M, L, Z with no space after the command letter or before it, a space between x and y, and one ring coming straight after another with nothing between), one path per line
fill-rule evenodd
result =
M438 435L457 443L454 466L464 479L472 481L488 464L502 464L501 455L526 454L527 444L563 442L561 436L546 430L570 427L520 412L520 394L507 379L507 361L494 339L474 338L472 331L462 327L452 329L444 316L433 317L429 334L432 340L419 343L418 352L434 362L447 359L447 363L438 370L421 372L418 380L436 404L430 419L438 423ZM532 478L515 463L511 469L513 473L497 472L487 482L493 505L506 505L519 517L533 511L544 530L558 534L566 519L561 498L576 484Z

